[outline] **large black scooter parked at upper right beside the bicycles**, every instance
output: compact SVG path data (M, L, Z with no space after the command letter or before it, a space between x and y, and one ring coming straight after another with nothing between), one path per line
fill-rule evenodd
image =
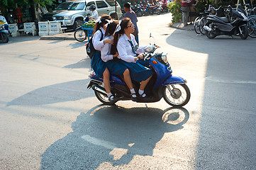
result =
M247 21L248 18L244 13L229 7L225 17L207 16L204 30L210 39L218 35L240 35L240 38L245 40L248 37Z

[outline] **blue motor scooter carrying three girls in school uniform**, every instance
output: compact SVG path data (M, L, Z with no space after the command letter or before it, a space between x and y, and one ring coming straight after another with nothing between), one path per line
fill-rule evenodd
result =
M150 37L152 37L151 34ZM182 107L189 102L191 96L189 87L186 84L187 80L172 75L172 68L167 61L167 54L163 52L154 53L157 48L158 46L154 43L154 45L148 45L144 49L143 60L149 60L153 75L145 87L145 94L148 96L147 100L137 98L135 102L153 103L164 98L170 106ZM111 93L116 95L115 101L108 101L102 77L98 77L94 71L92 71L89 78L90 82L87 89L93 89L96 98L98 98L101 103L113 105L117 101L131 101L130 89L128 89L122 77L112 74L110 76ZM140 83L133 81L133 87L135 91L138 91Z

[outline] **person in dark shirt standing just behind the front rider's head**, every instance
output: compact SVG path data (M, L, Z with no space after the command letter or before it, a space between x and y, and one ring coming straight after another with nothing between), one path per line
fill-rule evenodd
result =
M138 37L139 31L137 26L138 19L137 19L136 13L130 8L129 3L124 4L123 8L124 8L124 11L126 11L123 18L130 18L130 21L132 21L135 28L133 35L135 36L135 40L139 45L139 37Z

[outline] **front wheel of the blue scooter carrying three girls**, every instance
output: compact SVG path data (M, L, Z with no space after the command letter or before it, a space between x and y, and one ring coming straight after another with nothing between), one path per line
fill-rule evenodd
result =
M179 108L189 102L189 87L186 84L167 85L162 89L162 96L170 106Z

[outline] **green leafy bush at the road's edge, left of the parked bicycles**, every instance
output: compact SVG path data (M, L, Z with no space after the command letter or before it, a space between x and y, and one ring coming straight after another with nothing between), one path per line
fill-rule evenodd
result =
M172 1L168 5L169 11L172 13L172 23L179 22L182 18L182 5L179 0Z

